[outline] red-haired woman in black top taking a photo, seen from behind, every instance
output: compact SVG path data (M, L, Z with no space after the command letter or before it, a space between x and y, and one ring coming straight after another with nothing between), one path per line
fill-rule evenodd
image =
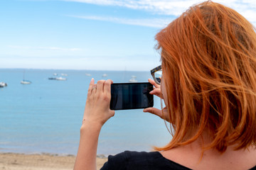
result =
M110 156L102 169L256 169L256 35L239 13L206 1L156 35L163 76L149 79L172 125L156 152ZM159 67L160 68L160 67ZM112 81L90 82L75 169L96 169L97 140ZM88 140L90 139L90 140Z

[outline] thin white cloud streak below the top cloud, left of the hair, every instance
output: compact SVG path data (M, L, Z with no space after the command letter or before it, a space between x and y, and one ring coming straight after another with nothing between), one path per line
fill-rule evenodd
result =
M127 19L127 18L115 18L115 17L104 17L104 16L72 16L72 17L89 19L89 20L97 20L97 21L109 21L113 23L122 23L127 25L134 25L134 26L146 26L146 27L153 27L153 28L164 28L172 20L171 18L170 19L163 19L163 18Z

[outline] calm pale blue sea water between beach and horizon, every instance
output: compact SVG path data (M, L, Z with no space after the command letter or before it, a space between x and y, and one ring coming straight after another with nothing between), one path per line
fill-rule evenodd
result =
M68 74L67 81L48 80L53 73ZM87 88L95 80L139 82L151 78L149 72L90 70L0 69L0 152L76 154ZM102 77L107 74L107 77ZM32 84L23 85L25 77ZM154 106L161 108L160 99ZM117 154L124 150L150 151L171 140L164 120L142 109L116 111L100 132L97 154Z

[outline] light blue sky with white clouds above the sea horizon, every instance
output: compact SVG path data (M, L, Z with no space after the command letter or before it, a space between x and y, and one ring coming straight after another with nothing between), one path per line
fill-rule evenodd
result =
M0 68L149 71L154 36L196 0L1 0ZM256 24L255 0L215 1Z

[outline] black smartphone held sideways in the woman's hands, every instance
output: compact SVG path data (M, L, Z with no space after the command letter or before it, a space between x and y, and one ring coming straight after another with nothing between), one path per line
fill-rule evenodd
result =
M111 110L149 108L154 106L150 83L119 83L111 85Z

